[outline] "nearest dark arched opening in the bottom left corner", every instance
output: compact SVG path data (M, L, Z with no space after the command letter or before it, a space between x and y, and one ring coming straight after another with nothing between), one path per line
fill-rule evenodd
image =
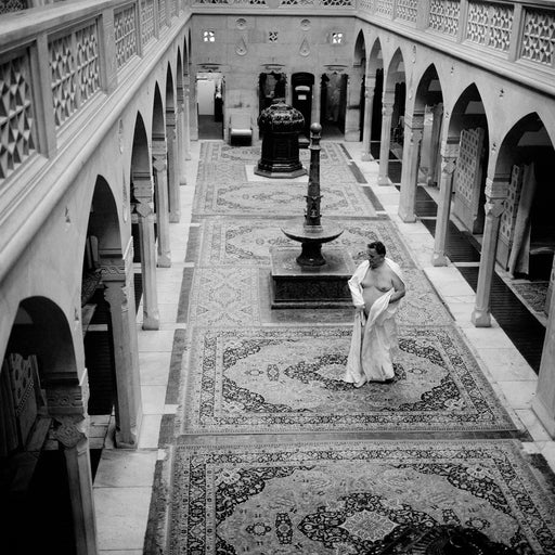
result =
M77 462L77 446L66 441L68 435L59 435L64 427L83 429L86 389L87 376L77 369L74 337L62 309L44 297L21 301L0 370L5 553L92 553L88 550L96 539L91 460L81 456ZM85 434L78 443L88 452Z

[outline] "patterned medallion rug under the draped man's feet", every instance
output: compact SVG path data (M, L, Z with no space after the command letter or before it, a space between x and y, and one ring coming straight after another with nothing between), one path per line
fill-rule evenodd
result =
M180 431L515 429L454 327L401 326L393 383L359 389L341 380L351 330L196 328Z

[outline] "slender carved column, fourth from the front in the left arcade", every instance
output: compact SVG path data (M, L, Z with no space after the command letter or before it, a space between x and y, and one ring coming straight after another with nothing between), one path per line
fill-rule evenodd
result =
M154 169L156 195L156 223L158 231L158 260L159 268L171 266L171 251L169 247L169 209L168 209L168 156L166 141L153 139L152 166Z

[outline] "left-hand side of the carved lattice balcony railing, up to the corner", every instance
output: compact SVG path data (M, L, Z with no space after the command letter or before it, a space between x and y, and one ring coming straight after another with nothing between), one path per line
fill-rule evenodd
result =
M55 151L57 130L96 94L113 90L118 74L143 55L185 7L184 0L106 0L85 7L53 4L33 18L2 16L0 191L34 153Z

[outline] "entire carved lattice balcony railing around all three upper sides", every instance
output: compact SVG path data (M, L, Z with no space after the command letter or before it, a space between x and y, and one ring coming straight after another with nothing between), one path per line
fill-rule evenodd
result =
M4 8L20 4L24 2L0 0ZM0 193L5 179L34 153L55 152L59 130L98 94L114 90L121 72L154 48L165 29L182 24L176 16L214 10L359 15L410 40L434 43L449 55L466 55L492 72L504 64L505 75L515 69L513 79L555 94L555 4L551 0L54 3L34 12L34 17L9 14L0 20Z

